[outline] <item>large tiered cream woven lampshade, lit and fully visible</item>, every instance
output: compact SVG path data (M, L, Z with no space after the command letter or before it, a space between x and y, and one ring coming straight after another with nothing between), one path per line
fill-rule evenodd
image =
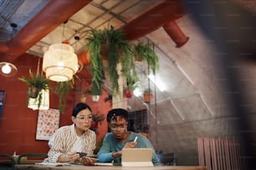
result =
M56 43L44 53L43 71L54 82L66 82L72 79L78 70L78 59L74 48L69 44Z

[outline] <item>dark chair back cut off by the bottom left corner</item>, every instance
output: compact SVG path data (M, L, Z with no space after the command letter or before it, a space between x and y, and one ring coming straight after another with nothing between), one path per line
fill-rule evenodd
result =
M0 169L15 170L15 161L11 155L0 154Z

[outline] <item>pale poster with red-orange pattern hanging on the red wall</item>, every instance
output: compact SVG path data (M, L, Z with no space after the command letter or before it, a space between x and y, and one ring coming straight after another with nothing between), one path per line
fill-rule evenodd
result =
M39 110L36 140L49 140L59 128L59 109Z

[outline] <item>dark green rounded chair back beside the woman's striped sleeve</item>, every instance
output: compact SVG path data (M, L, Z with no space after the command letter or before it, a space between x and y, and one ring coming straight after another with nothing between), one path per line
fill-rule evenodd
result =
M17 164L34 164L43 162L47 158L47 153L23 153L18 156ZM23 158L25 158L23 160Z

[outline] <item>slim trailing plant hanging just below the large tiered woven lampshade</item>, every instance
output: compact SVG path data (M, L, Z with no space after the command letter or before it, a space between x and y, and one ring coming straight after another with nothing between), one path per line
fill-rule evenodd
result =
M66 97L73 87L73 79L67 82L57 82L55 93L59 96L59 112L64 112L66 107Z

